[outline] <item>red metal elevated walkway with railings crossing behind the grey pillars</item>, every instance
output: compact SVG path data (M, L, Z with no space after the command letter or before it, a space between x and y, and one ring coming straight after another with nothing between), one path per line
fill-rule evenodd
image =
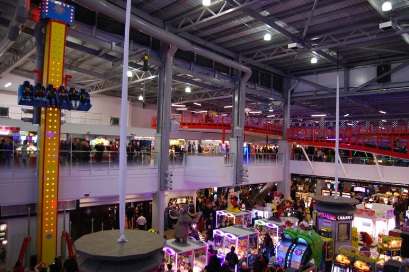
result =
M171 118L180 123L181 129L230 130L232 125L232 119L229 116L174 114ZM153 116L152 128L156 126L156 116ZM282 135L283 126L278 121L268 118L246 117L244 131ZM335 128L291 127L287 130L287 141L294 144L335 147ZM407 123L395 127L357 126L339 129L340 149L409 159L408 142Z

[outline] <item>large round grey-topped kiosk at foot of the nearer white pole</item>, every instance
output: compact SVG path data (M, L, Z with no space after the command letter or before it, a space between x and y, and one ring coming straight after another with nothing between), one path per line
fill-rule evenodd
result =
M87 234L74 242L81 271L154 271L163 258L165 239L147 231L125 230L128 240L119 243L119 230Z

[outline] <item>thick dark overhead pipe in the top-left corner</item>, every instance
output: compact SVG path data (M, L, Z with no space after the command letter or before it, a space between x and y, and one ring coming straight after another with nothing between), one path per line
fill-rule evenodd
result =
M17 7L14 12L14 17L9 23L9 29L7 30L7 35L0 42L0 57L9 50L11 45L17 40L18 35L20 35L20 27L27 20L28 8L30 3L28 0L18 0Z

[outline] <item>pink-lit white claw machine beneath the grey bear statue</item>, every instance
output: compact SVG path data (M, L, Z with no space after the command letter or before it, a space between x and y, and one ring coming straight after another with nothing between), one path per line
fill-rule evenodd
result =
M163 251L166 262L171 263L175 271L180 269L181 272L188 272L193 269L194 272L199 272L205 268L208 257L206 242L188 237L188 245L180 246L174 241L175 239L166 240Z

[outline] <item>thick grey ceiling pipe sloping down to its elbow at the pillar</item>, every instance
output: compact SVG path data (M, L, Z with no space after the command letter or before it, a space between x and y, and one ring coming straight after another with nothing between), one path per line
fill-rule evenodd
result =
M80 4L81 6L84 6L85 8L89 10L93 10L95 12L100 12L105 15L108 15L109 17L116 19L120 22L124 22L125 16L125 10L123 10L120 7L117 7L115 5L112 5L111 3L105 1L105 0L74 0L74 2ZM154 24L134 15L131 14L130 18L130 26L134 29L140 30L143 33L150 35L158 40L164 41L166 43L172 44L173 46L176 46L180 48L181 50L184 51L191 51L194 52L200 56L209 58L211 60L215 60L221 64L224 64L226 66L232 67L234 69L237 69L239 71L244 72L244 76L242 77L242 82L245 84L247 83L248 79L252 75L252 70L233 60L230 60L228 58L222 57L220 55L217 55L213 52L210 52L208 50L205 50L203 48L200 48L198 46L193 45L191 42L188 40L181 38L173 33L170 33L164 29L161 29ZM245 85L244 84L244 85Z

